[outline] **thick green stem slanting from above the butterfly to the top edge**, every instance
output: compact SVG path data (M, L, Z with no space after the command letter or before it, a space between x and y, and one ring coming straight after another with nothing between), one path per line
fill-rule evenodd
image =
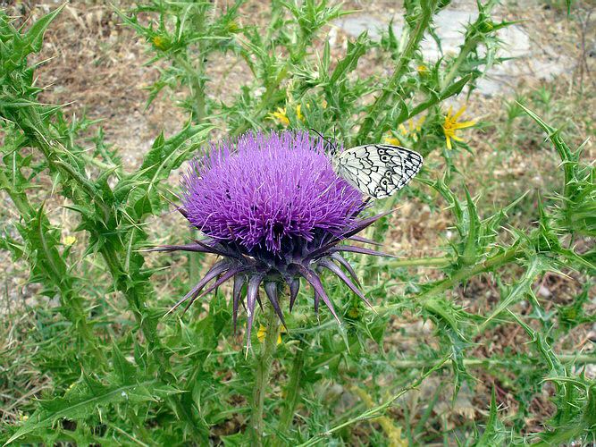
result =
M423 7L420 18L416 23L416 29L407 40L406 48L404 48L404 51L401 53L401 55L399 55L399 61L395 66L395 70L393 71L387 86L382 90L381 96L377 97L373 105L371 105L366 111L365 121L362 122L360 131L358 131L358 141L363 141L366 138L368 133L373 128L374 120L381 114L382 109L387 104L387 101L389 101L390 97L393 96L395 90L398 88L399 80L401 80L402 76L407 70L407 64L410 62L410 59L412 59L414 51L424 37L424 31L428 28L428 24L431 21L432 13L434 12L436 4L436 0L432 0L429 2L427 7Z

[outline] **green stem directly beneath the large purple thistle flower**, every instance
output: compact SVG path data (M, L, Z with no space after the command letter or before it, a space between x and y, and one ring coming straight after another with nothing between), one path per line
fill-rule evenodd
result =
M263 346L256 359L255 388L253 390L252 414L250 428L253 439L252 445L263 445L264 432L264 395L269 384L269 373L273 363L273 354L277 347L277 338L280 331L280 319L275 315L273 306L269 306L266 323L266 335Z

